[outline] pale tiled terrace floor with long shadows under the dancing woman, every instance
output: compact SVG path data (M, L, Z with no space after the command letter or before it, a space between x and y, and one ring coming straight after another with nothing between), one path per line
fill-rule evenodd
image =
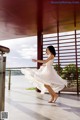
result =
M6 90L8 120L80 120L80 97L60 94L55 104L49 98L35 91Z

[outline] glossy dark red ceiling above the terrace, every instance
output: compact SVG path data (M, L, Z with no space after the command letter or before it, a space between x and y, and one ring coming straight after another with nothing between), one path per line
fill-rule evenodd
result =
M74 18L79 30L80 0L0 0L0 40L37 35L38 17L44 34L74 30Z

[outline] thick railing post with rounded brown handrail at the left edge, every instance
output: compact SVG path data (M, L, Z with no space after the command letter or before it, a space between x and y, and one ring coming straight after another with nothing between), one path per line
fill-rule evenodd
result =
M5 106L5 68L6 68L6 57L3 56L6 52L8 53L9 48L0 46L0 112L4 111Z

